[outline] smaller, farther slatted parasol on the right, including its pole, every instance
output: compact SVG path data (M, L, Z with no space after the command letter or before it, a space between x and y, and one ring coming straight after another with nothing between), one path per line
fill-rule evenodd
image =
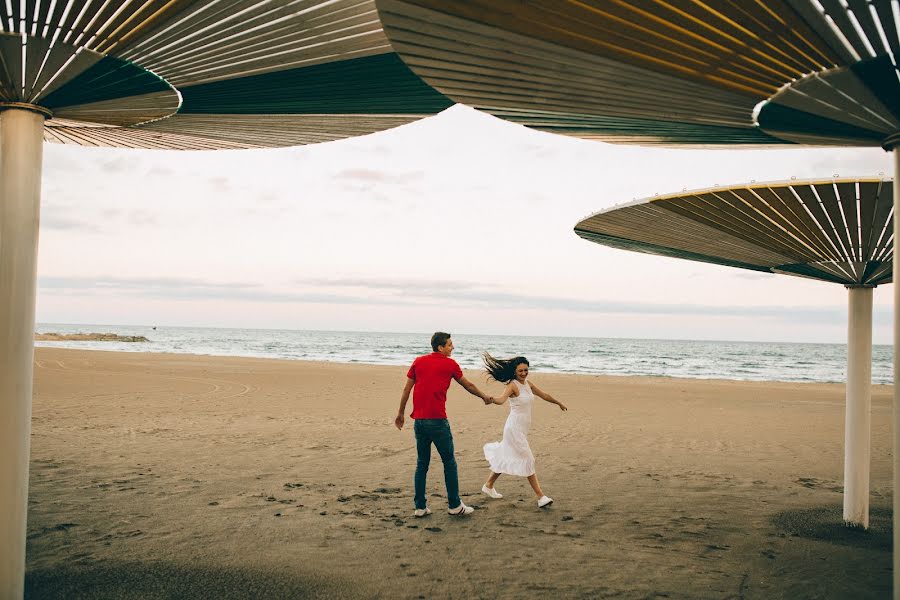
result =
M591 215L623 250L839 283L849 290L844 521L869 526L872 288L893 280L894 189L873 179L753 183L654 196Z

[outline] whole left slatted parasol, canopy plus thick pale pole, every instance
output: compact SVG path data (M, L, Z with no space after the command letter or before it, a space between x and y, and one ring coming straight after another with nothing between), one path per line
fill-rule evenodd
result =
M0 598L23 593L42 140L292 146L451 104L373 0L0 1Z

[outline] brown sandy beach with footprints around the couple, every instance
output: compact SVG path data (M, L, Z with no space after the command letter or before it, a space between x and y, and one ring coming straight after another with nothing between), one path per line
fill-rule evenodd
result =
M410 357L412 360L413 357ZM451 387L477 510L413 518L405 367L37 348L27 598L886 598L891 388L872 527L841 521L841 385L533 381L545 492L482 454L506 407ZM498 393L482 373L467 371Z

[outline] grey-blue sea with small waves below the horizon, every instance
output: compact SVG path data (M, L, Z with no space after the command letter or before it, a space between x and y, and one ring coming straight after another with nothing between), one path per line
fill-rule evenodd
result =
M36 346L408 365L431 333L292 331L39 323L37 333L116 333L149 342L35 342ZM845 344L526 337L453 333L453 358L481 368L483 352L526 356L537 374L647 375L747 381L845 382ZM872 349L872 382L891 384L892 347Z

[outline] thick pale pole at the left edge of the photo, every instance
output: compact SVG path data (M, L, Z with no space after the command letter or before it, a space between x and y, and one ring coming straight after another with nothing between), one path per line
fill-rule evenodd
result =
M44 115L0 105L0 599L25 588Z

